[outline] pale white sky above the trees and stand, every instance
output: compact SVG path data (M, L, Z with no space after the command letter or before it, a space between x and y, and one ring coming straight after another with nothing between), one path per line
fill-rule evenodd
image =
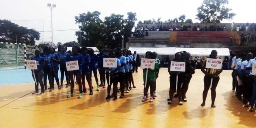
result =
M101 12L100 19L110 16L112 13L122 14L127 17L127 12L136 12L138 21L162 18L162 21L173 19L185 14L186 19L195 19L197 8L203 0L0 0L0 19L9 19L19 26L36 31L50 31L51 18L50 9L47 3L56 4L52 11L53 30L78 29L74 17L80 13L95 10ZM228 8L237 15L229 22L255 22L256 16L252 9L256 5L256 0L229 0ZM36 21L17 21L34 20ZM137 23L137 22L136 22ZM75 31L54 31L54 43L77 41ZM40 32L39 42L51 41L51 32Z

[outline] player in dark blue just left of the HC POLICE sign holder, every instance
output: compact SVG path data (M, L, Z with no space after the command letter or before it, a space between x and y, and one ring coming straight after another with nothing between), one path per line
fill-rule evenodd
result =
M103 58L107 58L107 54L103 52L103 49L100 49L100 53L97 54L97 64L98 64L98 69L100 73L100 85L102 88L105 88L105 82L106 82L106 77L105 77L105 72L106 69L103 67Z

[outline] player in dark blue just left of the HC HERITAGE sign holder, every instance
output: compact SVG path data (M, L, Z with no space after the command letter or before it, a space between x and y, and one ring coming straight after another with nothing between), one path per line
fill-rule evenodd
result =
M67 73L67 67L66 67L66 61L67 58L69 57L69 54L66 52L66 47L62 46L61 47L61 52L58 53L59 58L61 60L60 62L60 70L61 70L61 87L63 86L63 80L64 80L64 73L66 76L66 87L69 85L69 78L68 78L68 73Z

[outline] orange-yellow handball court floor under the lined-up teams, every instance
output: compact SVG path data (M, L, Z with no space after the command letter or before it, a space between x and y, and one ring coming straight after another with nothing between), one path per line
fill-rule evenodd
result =
M249 112L249 108L243 107L231 91L231 72L224 70L220 74L216 108L211 108L210 90L206 106L200 106L204 75L199 69L190 81L187 102L183 102L183 106L178 106L177 98L173 104L167 104L170 86L167 68L160 69L157 97L152 103L149 98L141 102L144 88L141 69L133 73L137 88L125 93L124 99L116 101L105 100L106 88L98 92L93 88L93 95L83 93L83 98L78 99L78 85L75 85L74 97L71 98L67 98L70 88L55 89L51 93L47 91L40 96L31 94L35 90L33 83L1 85L0 128L255 127L256 112ZM92 80L96 87L93 77Z

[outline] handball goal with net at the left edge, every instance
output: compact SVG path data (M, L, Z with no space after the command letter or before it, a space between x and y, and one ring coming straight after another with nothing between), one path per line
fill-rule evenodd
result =
M26 69L26 44L0 42L0 70Z

